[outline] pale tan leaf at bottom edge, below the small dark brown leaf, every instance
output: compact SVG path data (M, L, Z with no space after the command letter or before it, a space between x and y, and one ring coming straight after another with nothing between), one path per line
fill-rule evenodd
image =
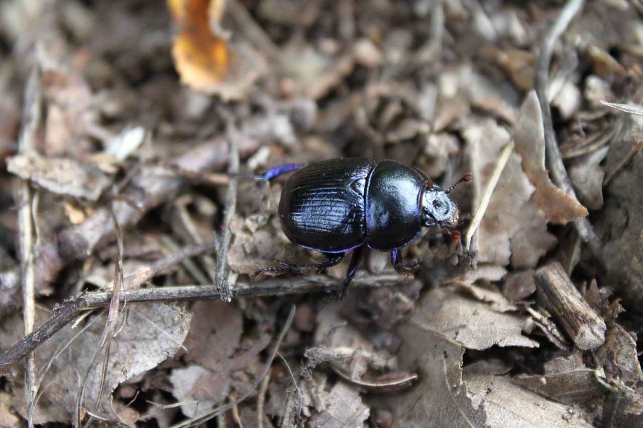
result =
M518 386L509 376L498 375L488 362L463 371L471 401L485 412L487 427L583 427L588 424L579 409L547 400Z

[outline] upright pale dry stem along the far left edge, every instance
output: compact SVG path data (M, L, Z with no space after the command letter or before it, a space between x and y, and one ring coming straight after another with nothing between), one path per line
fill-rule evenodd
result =
M37 66L27 80L24 91L23 124L20 132L18 150L20 154L28 154L35 150L35 133L41 121L41 82ZM30 334L35 326L35 291L33 287L33 212L32 192L27 180L19 180L17 186L18 206L18 236L21 290L23 292L24 334ZM33 402L37 394L35 352L26 355L24 370L24 395L29 415L29 426L32 426Z

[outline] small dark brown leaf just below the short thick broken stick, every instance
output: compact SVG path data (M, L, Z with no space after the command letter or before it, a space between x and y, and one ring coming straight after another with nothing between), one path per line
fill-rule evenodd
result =
M594 370L585 365L578 352L545 362L543 375L518 375L514 380L543 397L566 404L588 404L604 392Z

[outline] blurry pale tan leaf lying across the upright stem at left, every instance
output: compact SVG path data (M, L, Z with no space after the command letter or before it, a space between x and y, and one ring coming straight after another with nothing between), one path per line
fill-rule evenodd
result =
M32 153L7 159L7 170L58 195L96 201L111 179L95 163L80 164L69 158Z

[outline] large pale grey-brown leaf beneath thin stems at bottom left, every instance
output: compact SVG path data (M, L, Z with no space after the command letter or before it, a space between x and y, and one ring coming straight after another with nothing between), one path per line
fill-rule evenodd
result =
M132 377L156 367L174 355L188 332L192 315L165 303L130 304L120 314L118 330L111 342L109 366L100 391L104 361L89 375L84 405L105 420L120 421L112 403L114 388ZM123 315L127 313L127 322ZM105 314L91 317L86 328L66 326L38 348L39 361L45 364L57 348L64 348L46 370L41 382L42 395L35 409L35 424L50 421L69 422L77 402L78 388L91 366L105 325ZM23 397L23 395L21 395ZM100 400L98 398L100 397ZM24 409L24 404L22 406ZM61 416L66 411L65 419ZM24 413L21 415L26 416Z

